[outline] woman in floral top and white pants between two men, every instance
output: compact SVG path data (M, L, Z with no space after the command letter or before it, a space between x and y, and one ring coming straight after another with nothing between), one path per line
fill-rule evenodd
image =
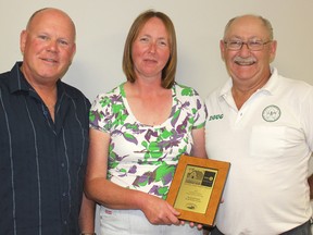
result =
M202 233L165 201L179 157L206 158L205 107L175 83L176 63L172 21L143 12L125 44L127 82L93 101L86 193L101 205L102 234Z

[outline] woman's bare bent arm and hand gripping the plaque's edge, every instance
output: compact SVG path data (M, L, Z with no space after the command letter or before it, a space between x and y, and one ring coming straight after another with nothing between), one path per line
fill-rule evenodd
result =
M109 134L90 129L85 183L88 198L112 209L139 209L152 224L179 224L179 212L165 200L107 180L109 144Z

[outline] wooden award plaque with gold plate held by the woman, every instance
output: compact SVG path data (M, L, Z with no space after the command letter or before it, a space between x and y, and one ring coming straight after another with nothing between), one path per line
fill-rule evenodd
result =
M229 162L181 156L166 201L180 220L213 226Z

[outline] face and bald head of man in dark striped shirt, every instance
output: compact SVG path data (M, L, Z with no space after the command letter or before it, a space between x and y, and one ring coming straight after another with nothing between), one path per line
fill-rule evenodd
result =
M62 12L39 12L21 34L23 72L30 82L55 83L75 54L75 28Z

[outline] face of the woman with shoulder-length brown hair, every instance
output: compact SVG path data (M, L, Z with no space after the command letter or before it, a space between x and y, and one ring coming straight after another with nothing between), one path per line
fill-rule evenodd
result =
M133 44L132 57L137 78L160 78L170 58L170 39L163 22L151 17Z

